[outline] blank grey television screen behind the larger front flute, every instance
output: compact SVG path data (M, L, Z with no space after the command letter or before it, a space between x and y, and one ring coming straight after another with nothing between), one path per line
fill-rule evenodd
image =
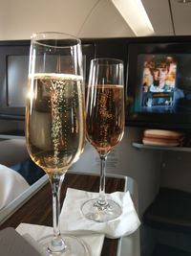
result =
M30 43L29 40L0 43L0 119L25 119ZM95 45L82 44L82 51L86 82Z

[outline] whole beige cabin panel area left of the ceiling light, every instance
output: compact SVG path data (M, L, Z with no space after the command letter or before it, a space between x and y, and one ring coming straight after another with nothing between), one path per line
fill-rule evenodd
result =
M133 35L110 0L1 0L0 6L0 40L29 39L42 31L81 37Z

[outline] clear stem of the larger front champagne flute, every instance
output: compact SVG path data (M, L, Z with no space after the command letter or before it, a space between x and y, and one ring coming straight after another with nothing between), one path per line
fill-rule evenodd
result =
M66 244L60 237L60 190L64 175L49 176L53 192L53 239L49 249L53 252L64 250Z

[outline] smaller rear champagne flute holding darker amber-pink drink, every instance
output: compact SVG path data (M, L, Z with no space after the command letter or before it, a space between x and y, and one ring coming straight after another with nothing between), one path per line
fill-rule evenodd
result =
M115 58L91 60L86 99L87 138L100 157L99 197L81 206L82 213L95 221L112 221L121 214L121 206L106 198L105 173L108 153L124 133L123 62Z

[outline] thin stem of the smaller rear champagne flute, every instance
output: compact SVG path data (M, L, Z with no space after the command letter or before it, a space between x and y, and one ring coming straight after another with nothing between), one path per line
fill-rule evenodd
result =
M107 160L107 155L100 155L100 183L99 183L99 198L98 198L98 204L100 205L107 205L107 200L105 198L106 160Z

